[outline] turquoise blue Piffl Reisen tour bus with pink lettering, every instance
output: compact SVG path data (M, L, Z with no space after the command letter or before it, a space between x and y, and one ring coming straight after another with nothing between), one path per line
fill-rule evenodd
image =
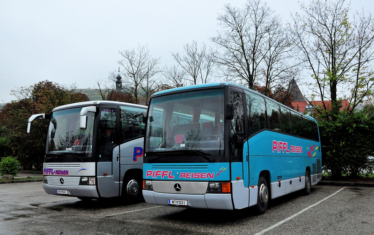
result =
M270 198L309 194L322 177L316 120L234 83L157 92L146 121L150 204L261 214Z

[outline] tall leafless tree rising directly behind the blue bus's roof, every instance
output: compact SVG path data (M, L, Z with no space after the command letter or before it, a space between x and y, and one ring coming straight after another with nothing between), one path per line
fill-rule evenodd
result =
M218 16L223 27L211 41L223 52L216 61L223 65L223 74L229 80L253 89L256 76L261 73L264 59L264 39L269 34L273 11L261 1L247 1L243 8L226 4Z

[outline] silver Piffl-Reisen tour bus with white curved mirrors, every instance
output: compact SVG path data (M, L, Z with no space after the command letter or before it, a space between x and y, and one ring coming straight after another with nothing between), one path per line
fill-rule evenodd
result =
M56 107L49 119L43 163L46 193L82 200L123 196L142 198L142 164L146 106L88 101Z

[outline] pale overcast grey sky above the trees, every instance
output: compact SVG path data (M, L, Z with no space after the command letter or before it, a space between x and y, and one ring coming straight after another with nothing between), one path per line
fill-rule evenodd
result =
M118 70L119 50L138 44L162 57L160 66L172 66L170 52L184 44L211 45L225 3L245 0L0 0L0 103L16 99L12 89L43 80L93 88ZM298 0L267 3L284 21L300 12ZM373 3L352 1L354 10L361 7L372 11Z

